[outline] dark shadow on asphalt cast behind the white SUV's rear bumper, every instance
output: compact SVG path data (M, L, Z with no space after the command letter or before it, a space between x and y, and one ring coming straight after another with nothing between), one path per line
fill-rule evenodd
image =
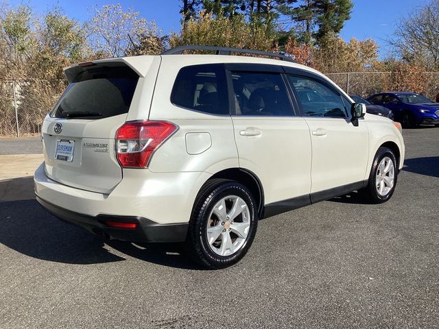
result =
M98 236L64 223L44 210L34 199L32 177L0 181L0 244L41 260L68 264L99 264L125 260L117 251L150 263L182 269L200 269L180 245L135 245L104 241ZM15 186L15 188L12 188ZM22 193L15 191L21 188ZM29 191L32 191L30 193ZM27 199L23 200L23 197ZM32 199L29 199L31 198ZM109 246L109 247L108 247Z

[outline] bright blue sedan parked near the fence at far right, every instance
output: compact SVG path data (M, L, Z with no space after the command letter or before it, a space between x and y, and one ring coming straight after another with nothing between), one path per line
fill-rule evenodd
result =
M404 128L414 128L417 125L439 127L439 103L434 103L423 95L407 92L379 93L370 96L368 101L391 110L394 121L401 122Z

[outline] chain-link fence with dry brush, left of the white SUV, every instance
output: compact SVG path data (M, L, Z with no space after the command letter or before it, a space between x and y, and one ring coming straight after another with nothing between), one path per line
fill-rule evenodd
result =
M39 134L66 84L64 80L0 81L0 136Z

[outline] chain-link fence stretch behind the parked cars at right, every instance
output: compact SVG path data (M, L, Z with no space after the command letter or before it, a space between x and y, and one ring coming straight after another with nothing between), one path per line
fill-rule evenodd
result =
M439 93L439 72L424 72L411 80L392 72L328 73L327 76L346 93L361 97L394 90L416 91L434 100ZM416 90L413 85L416 85Z

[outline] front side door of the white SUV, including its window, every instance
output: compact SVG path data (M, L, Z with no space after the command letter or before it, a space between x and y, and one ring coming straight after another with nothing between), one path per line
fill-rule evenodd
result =
M368 129L364 119L354 125L351 102L323 78L302 70L286 70L311 132L311 200L326 199L340 186L361 187L368 164Z

